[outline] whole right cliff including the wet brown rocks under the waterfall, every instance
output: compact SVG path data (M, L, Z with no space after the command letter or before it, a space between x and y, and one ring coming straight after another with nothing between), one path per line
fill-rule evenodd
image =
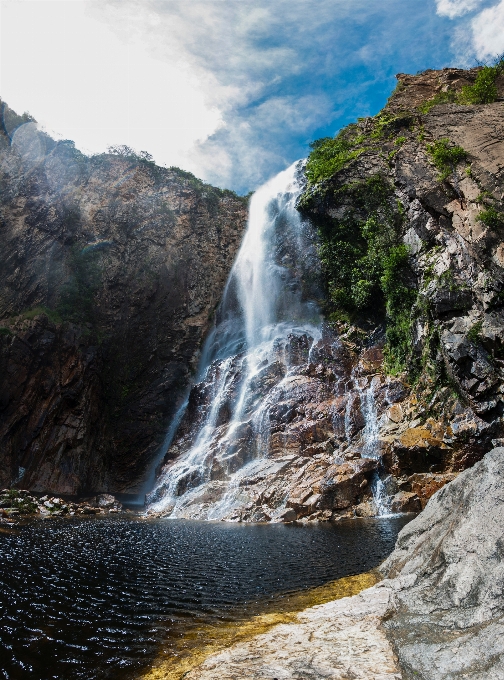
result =
M184 516L223 503L258 436L266 460L233 477L227 519L419 511L503 437L503 71L400 74L380 114L312 145L298 209L318 231L323 337L278 345L231 463L215 461ZM217 370L194 386L165 470L206 422ZM219 397L223 432L239 377Z

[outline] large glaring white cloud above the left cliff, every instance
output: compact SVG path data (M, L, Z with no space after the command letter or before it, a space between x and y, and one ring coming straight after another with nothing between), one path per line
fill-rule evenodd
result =
M0 94L49 132L88 152L128 144L160 163L184 165L188 149L222 123L198 74L156 59L98 21L80 0L0 3Z

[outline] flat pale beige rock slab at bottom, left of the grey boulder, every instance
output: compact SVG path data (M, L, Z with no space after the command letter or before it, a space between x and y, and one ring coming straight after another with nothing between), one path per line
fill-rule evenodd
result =
M298 622L275 626L209 657L187 680L400 680L392 646L380 628L391 589L370 588L307 609Z

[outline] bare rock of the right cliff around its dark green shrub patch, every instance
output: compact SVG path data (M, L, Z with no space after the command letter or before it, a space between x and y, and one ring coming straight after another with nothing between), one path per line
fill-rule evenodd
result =
M500 99L493 103L433 105L440 93L455 98L477 74L398 75L400 86L384 111L354 126L356 157L309 184L300 201L326 234L362 210L352 196L372 178L390 187L389 205L398 206L400 242L409 253L401 275L414 292L406 365L391 371L383 362L384 352L390 358L394 351L387 346L387 300L351 319L339 316L334 303L327 310L336 310L333 326L356 367L347 389L357 453L365 434L359 400L375 384L381 474L390 475L385 480L396 493L396 509L425 507L503 436L504 78L497 78ZM446 172L431 152L439 142L465 154ZM391 373L402 384L392 398Z

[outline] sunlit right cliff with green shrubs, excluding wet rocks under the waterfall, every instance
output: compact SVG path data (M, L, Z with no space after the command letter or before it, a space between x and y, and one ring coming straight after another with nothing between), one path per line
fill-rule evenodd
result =
M479 73L400 74L381 114L315 146L300 200L354 365L349 412L374 392L397 509L423 507L503 436L504 78L495 101L460 103Z

